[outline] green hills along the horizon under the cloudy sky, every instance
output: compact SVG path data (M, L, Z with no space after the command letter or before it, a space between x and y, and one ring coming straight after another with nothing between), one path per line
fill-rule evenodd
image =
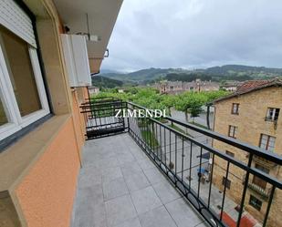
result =
M195 78L202 80L238 80L266 79L282 77L282 68L272 67L249 67L241 65L225 65L222 67L208 67L204 69L183 69L183 68L146 68L130 73L120 73L104 70L99 77L111 78L111 86L114 80L122 84L148 84L162 79L192 81ZM99 81L100 80L99 78ZM106 82L106 81L105 81ZM113 84L112 84L113 83Z

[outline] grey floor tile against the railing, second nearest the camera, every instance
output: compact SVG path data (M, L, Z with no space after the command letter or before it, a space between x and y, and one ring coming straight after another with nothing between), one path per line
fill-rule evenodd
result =
M170 184L168 181L162 181L160 183L153 184L152 187L160 197L163 204L182 197L181 194L176 191L172 184Z

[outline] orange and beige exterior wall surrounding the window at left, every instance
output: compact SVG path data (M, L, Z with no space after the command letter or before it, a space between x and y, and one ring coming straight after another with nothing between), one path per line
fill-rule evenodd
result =
M0 226L68 227L85 141L79 105L89 97L87 88L68 86L59 37L63 27L53 2L24 2L37 15L54 117L0 153Z

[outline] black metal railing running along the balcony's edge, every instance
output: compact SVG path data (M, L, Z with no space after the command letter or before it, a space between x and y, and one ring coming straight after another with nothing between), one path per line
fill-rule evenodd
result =
M114 118L113 113L118 109L145 109L114 99L104 103L89 100L82 106L88 109L82 111L87 114L88 120L102 119L99 127L108 127L109 124L104 124L106 120L103 119ZM120 119L112 120L120 122ZM115 129L111 124L110 127ZM275 216L280 210L273 198L275 193L281 193L282 181L277 174L258 170L254 164L256 157L273 163L275 169L282 164L281 156L172 118L127 117L121 125L120 131L130 133L132 139L211 226L279 226L281 223ZM97 124L88 127L91 130L99 129ZM107 129L111 130L110 127ZM111 134L114 133L103 135ZM226 146L236 150L236 154L244 155L231 157L225 154L223 148ZM256 194L250 187L254 177L267 184L267 198L264 196L262 203L259 202L259 193ZM254 196L258 201L253 201ZM252 205L255 203L256 207Z

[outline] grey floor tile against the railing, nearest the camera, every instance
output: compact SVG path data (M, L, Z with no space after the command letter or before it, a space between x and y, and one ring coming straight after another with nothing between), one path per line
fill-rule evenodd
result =
M193 227L204 221L193 211L191 206L192 205L184 201L183 198L165 205L178 227Z

